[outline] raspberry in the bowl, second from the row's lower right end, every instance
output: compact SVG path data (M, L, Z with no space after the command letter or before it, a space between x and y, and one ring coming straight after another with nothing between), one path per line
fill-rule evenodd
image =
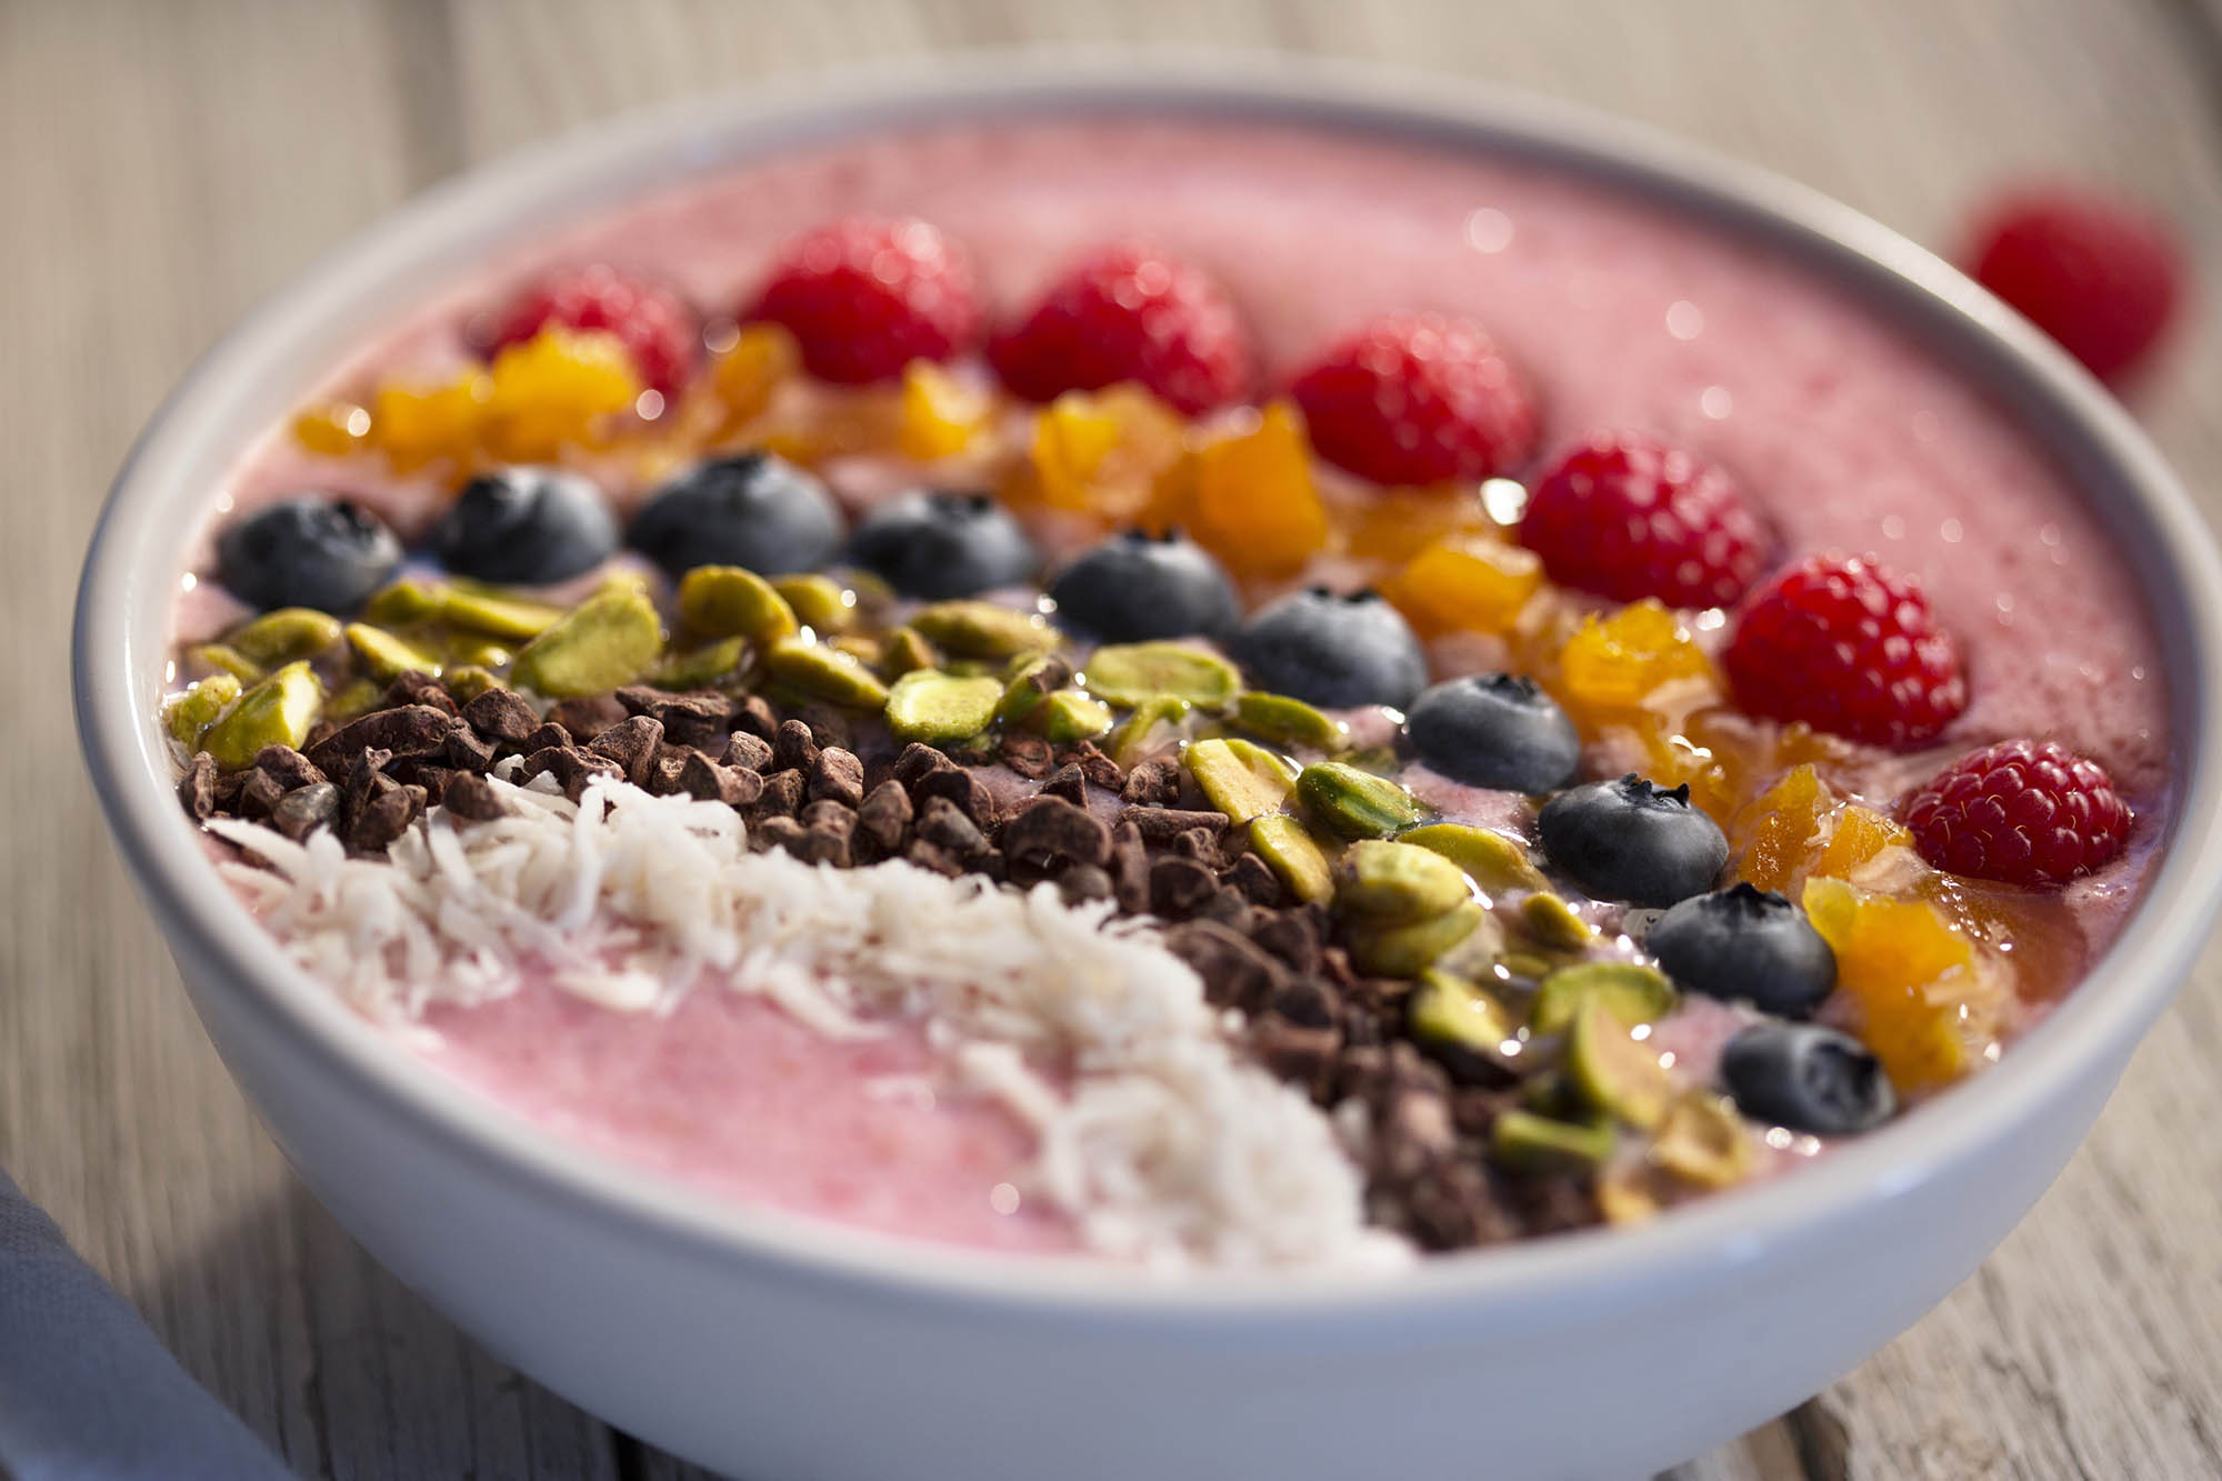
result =
M1951 634L1873 556L1813 556L1760 587L1722 665L1744 709L1869 745L1918 745L1966 709Z

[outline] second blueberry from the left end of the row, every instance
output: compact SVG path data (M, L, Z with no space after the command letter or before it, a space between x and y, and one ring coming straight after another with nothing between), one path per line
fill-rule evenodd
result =
M618 518L589 478L556 467L504 467L462 487L433 531L458 576L544 587L609 560Z

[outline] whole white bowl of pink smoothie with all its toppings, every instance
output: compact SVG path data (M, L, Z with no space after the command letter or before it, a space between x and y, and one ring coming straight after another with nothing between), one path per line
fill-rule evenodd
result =
M1209 73L462 180L96 536L273 1134L711 1465L1671 1463L1964 1276L2200 945L2215 558L2080 371L1647 136Z

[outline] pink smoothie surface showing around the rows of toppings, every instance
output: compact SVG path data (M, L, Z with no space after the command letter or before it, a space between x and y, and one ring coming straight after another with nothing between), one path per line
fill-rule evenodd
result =
M1784 554L1875 551L1922 576L1973 676L1942 749L2029 734L2100 758L2142 836L2133 861L2071 898L2078 934L2109 936L2133 896L2166 807L2164 676L2100 525L1975 389L1849 298L1766 249L1595 187L1273 127L880 138L542 236L371 347L342 382L451 365L462 318L549 262L604 258L731 314L784 238L844 213L933 220L1000 307L1080 249L1151 240L1218 274L1275 378L1369 314L1475 316L1538 387L1547 447L1595 427L1675 438L1731 469ZM247 505L322 483L422 523L424 489L331 467L278 440L231 494ZM1062 1236L989 1210L993 1183L1022 1181L1027 1156L1000 1114L864 1096L864 1074L915 1043L829 1043L727 992L698 992L671 1018L620 1018L533 990L433 1025L447 1038L433 1058L458 1079L682 1179L969 1243Z

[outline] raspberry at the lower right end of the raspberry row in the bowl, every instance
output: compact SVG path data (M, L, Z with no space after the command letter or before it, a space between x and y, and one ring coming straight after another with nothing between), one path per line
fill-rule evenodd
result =
M2129 805L2095 761L2051 740L2002 740L1915 792L1906 827L1938 869L2055 887L2122 852Z

